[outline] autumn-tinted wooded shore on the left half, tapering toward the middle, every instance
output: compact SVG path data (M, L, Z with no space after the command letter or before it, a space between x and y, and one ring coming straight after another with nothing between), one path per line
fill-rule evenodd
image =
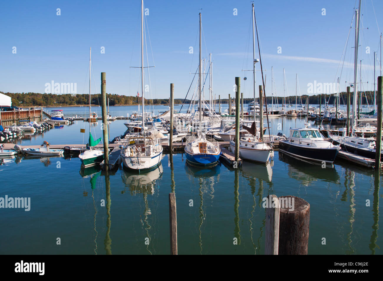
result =
M41 94L41 93L3 93L12 98L14 106L76 106L89 104L88 94ZM109 105L135 105L138 104L137 96L121 96L117 94L106 94ZM140 104L142 104L142 97ZM174 99L175 104L182 104L183 99ZM190 102L189 100L185 103ZM145 104L169 104L169 99L145 99ZM91 104L101 105L101 95L92 95Z

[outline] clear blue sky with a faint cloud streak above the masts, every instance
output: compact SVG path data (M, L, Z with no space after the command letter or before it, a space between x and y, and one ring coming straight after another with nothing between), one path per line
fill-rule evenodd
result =
M185 98L198 68L200 9L201 56L209 64L212 54L213 97L233 96L236 76L241 77L244 97L252 97L252 71L242 71L252 69L251 3L144 1L148 9L144 65L151 67L145 70L149 85L145 97L169 98L174 83L175 98ZM286 96L295 95L296 85L299 96L308 93L309 83L334 83L338 77L340 91L345 91L354 80L355 31L350 26L357 5L355 0L254 1L266 95L271 96L272 67L277 96L284 95L283 68ZM362 0L361 10L358 76L362 60L362 89L373 90L373 52L380 60L383 1ZM141 66L141 1L4 1L0 23L0 91L44 93L46 83L53 80L77 83L77 93L89 93L92 47L91 94L100 93L100 73L106 72L107 93L141 95L141 70L132 68ZM256 68L260 69L259 63ZM256 89L261 81L256 71ZM209 79L206 99L208 84Z

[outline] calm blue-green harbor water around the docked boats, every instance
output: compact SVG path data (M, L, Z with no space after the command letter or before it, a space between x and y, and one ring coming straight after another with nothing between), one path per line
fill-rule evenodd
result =
M65 117L81 115L80 110L85 114L83 107L60 109ZM126 116L137 107L110 109L112 116ZM273 134L304 123L286 117L270 121ZM125 131L124 122L110 123L110 138ZM88 123L77 121L18 142L86 143L80 128L87 129ZM100 121L92 133L101 136ZM80 166L79 158L3 160L0 197L30 197L31 206L30 211L0 209L0 254L170 253L168 155L161 166L145 174L118 169L107 176ZM373 170L347 162L322 169L278 152L267 166L244 162L239 169L222 163L196 168L186 163L184 154L173 154L173 167L179 254L264 254L262 198L268 194L295 195L310 203L309 254L382 253L378 179L383 179ZM56 244L58 237L61 245ZM233 245L234 237L238 245Z

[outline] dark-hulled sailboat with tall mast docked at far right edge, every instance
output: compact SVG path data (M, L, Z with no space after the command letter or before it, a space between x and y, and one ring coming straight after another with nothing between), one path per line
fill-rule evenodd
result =
M358 84L357 84L357 63L358 63L358 43L359 43L359 21L360 21L360 4L359 8L355 10L355 53L354 53L354 96L352 102L352 130L351 136L343 135L329 135L333 140L333 143L339 144L340 147L348 152L375 159L376 143L374 138L365 138L356 136L356 124L357 124L357 97L358 97ZM381 146L383 148L383 145ZM380 159L383 160L383 149L381 150Z

